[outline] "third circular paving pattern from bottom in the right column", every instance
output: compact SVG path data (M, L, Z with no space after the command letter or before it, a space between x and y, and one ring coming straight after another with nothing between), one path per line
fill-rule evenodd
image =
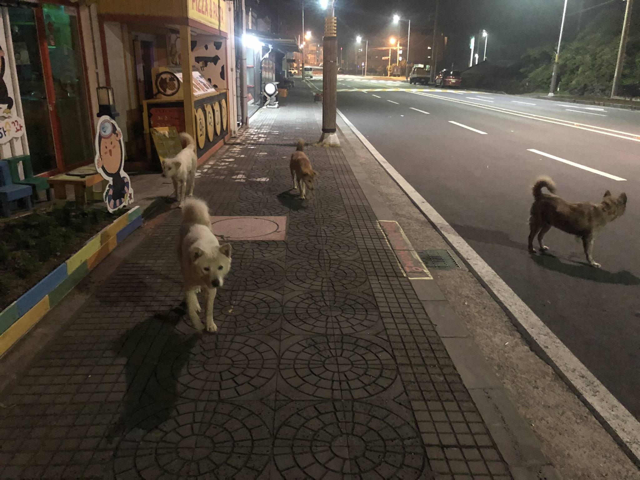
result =
M378 323L378 308L364 295L344 292L305 292L284 305L287 323L311 333L365 332Z

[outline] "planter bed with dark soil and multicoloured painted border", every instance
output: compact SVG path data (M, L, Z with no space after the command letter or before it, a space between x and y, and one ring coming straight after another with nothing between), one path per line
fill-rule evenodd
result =
M67 206L0 224L0 355L140 227L140 214Z

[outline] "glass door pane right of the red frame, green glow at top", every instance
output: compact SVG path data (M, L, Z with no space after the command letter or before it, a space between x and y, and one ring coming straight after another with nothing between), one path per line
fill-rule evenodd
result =
M77 10L63 5L44 5L42 10L60 118L60 143L68 170L93 157Z

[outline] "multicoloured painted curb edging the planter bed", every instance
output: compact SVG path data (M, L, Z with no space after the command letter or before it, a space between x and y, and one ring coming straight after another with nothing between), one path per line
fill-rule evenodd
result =
M142 225L139 206L119 216L95 234L66 262L0 312L0 356L35 326L74 287Z

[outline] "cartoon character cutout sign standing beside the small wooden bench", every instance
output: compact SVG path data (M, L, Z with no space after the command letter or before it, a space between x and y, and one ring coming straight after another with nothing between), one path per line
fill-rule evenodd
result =
M133 202L133 188L129 175L124 172L124 140L115 120L101 116L95 135L95 168L108 180L104 201L109 212Z

